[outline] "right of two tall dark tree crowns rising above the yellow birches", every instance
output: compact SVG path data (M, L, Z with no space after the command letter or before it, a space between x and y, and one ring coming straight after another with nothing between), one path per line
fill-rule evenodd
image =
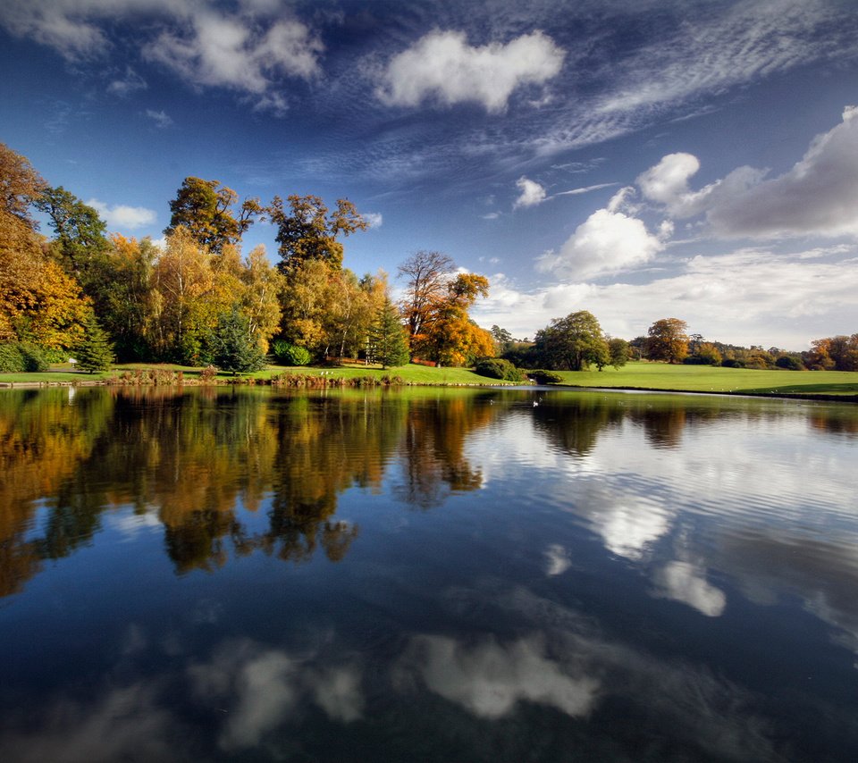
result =
M273 197L265 208L277 227L275 240L281 261L278 268L288 273L308 260L321 260L339 269L342 266L342 244L337 238L355 231L366 231L369 223L357 213L348 199L337 199L337 208L328 214L328 207L317 196L287 197L289 209L279 196Z

